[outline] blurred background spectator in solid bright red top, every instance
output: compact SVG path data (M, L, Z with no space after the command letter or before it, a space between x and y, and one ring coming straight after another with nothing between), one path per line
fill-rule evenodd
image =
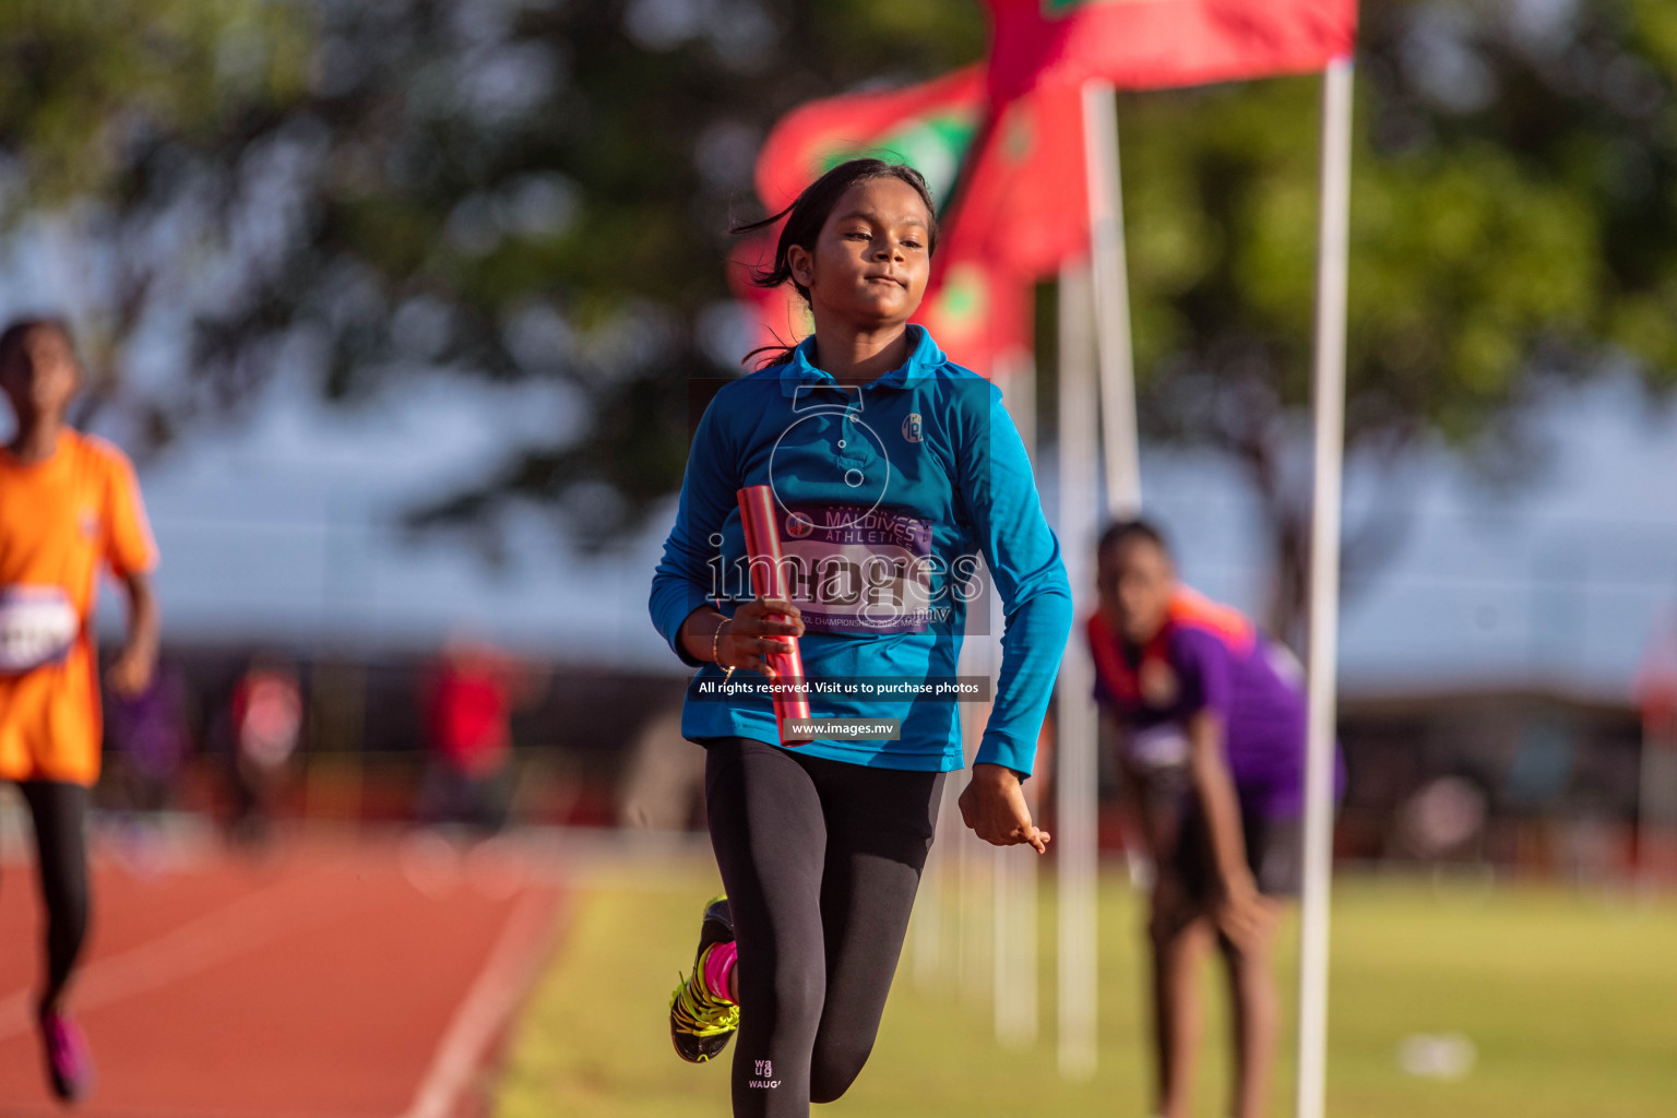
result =
M518 674L498 649L449 639L424 687L431 746L419 789L419 821L490 833L506 826L511 709Z

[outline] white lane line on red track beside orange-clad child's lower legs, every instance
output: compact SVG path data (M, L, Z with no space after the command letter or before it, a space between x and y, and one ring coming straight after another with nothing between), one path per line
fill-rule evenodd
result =
M158 939L107 959L94 959L75 977L70 1004L77 1011L154 991L218 962L235 959L262 944L319 924L340 920L371 903L366 890L349 905L302 903L293 893L314 888L330 870L299 875L288 882L247 893ZM307 888L305 888L307 887ZM0 1039L27 1033L35 1024L35 996L30 989L0 999Z

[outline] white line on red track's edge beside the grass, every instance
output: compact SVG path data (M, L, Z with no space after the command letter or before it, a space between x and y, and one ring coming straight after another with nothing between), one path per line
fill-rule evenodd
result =
M490 1043L535 979L562 903L562 893L532 890L506 917L500 939L466 999L454 1011L413 1106L402 1118L449 1118L454 1111L459 1093L471 1083Z

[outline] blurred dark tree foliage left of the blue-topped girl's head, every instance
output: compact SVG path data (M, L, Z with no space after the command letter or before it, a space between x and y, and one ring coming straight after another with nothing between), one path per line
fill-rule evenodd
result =
M976 0L42 0L0 32L10 213L117 277L79 308L96 406L161 444L280 374L349 406L555 379L580 434L416 521L535 503L584 543L678 484L688 380L736 367L726 230L768 127L984 47ZM129 367L148 330L190 339L174 375Z

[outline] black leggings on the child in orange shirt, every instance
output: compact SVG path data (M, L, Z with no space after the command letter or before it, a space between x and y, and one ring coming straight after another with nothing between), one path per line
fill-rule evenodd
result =
M47 907L47 986L40 1004L64 994L87 937L87 789L64 781L18 786L35 825L40 898Z

